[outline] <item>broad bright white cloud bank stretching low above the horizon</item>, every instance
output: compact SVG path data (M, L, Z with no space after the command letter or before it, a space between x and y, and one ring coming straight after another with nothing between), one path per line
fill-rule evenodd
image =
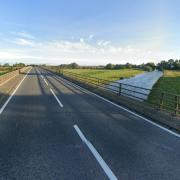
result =
M16 38L8 43L8 49L0 49L0 61L18 59L29 63L62 64L76 61L82 65L106 63L136 63L174 58L175 53L159 48L138 47L133 45L113 45L110 41L99 40L95 44L81 38L77 41ZM13 44L12 44L13 43ZM14 48L14 44L18 45ZM22 46L19 48L19 46ZM177 55L177 53L176 53Z

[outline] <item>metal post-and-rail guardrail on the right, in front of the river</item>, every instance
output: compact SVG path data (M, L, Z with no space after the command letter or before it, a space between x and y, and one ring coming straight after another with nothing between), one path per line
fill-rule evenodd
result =
M180 115L180 95L164 92L157 88L151 90L68 71L53 71L77 82L82 82L95 88L102 88L118 96L123 95L135 100L145 101L146 103L153 105L156 109L165 110L174 115Z

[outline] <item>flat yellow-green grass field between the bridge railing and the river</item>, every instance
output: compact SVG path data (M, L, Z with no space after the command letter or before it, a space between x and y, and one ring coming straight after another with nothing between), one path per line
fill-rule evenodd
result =
M119 80L121 78L133 77L144 71L138 69L121 69L121 70L105 70L105 69L64 69L65 72L73 72L85 76L106 79L110 81Z

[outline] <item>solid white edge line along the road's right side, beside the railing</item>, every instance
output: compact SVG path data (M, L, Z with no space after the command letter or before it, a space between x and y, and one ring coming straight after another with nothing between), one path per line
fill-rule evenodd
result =
M51 74L53 74L53 73L51 73ZM165 127L163 127L163 126L161 126L161 125L159 125L159 124L157 124L157 123L155 123L155 122L153 122L153 121L151 121L151 120L149 120L149 119L147 119L147 118L145 118L145 117L143 117L143 116L141 116L141 115L139 115L139 114L137 114L137 113L127 109L127 108L125 108L125 107L122 107L122 106L120 106L120 105L118 105L118 104L116 104L116 103L114 103L114 102L112 102L112 101L110 101L110 100L100 96L100 95L97 95L96 93L90 92L89 90L84 89L83 87L80 87L80 86L78 86L78 85L76 85L76 84L74 84L74 83L72 83L72 82L70 82L70 81L60 77L60 76L56 75L56 77L61 78L63 81L66 81L68 84L71 84L72 86L80 89L81 91L83 91L83 92L85 92L87 94L90 93L90 94L92 94L92 95L94 95L94 96L96 96L96 97L98 97L98 98L100 98L100 99L102 99L102 100L104 100L104 101L106 101L106 102L108 102L108 103L110 103L110 104L112 104L112 105L114 105L114 106L116 106L116 107L118 107L118 108L120 108L120 109L122 109L122 110L124 110L124 111L126 111L126 112L128 112L128 113L130 113L130 114L132 114L134 116L136 116L136 117L138 117L138 118L140 118L140 119L143 119L144 121L146 121L146 122L148 122L148 123L150 123L150 124L160 128L160 129L162 129L162 130L164 130L164 131L166 131L166 132L168 132L168 133L170 133L170 134L180 138L180 134L178 134L178 133L176 133L176 132L174 132L174 131L172 131L170 129L167 129L167 128L165 128Z

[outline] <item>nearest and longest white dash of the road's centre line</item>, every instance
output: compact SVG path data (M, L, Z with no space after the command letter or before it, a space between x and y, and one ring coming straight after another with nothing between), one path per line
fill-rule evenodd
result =
M79 129L79 127L77 125L74 125L73 127L76 130L76 132L79 135L79 137L81 138L81 140L87 145L87 147L89 148L89 150L91 151L93 156L96 158L96 160L98 161L99 165L104 170L104 172L106 173L108 178L111 179L111 180L117 180L118 178L114 175L112 170L109 168L109 166L103 160L103 158L98 153L98 151L95 149L95 147L86 139L86 137L84 136L82 131Z

